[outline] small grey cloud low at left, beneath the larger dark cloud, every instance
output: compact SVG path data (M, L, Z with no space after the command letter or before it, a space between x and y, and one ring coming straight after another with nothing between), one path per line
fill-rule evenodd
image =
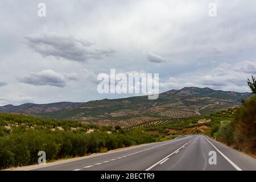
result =
M29 76L24 78L18 78L20 82L31 85L51 85L57 87L64 87L66 85L65 78L59 73L47 69L38 73L31 73Z

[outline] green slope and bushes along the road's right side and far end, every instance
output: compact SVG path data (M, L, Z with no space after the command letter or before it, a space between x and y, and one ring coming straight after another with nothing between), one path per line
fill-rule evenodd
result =
M145 129L147 131L159 131L166 135L206 134L237 150L256 156L256 78L252 76L247 84L254 95L243 100L241 107L210 115L159 120L144 123L142 126L148 126ZM154 125L155 123L165 124Z

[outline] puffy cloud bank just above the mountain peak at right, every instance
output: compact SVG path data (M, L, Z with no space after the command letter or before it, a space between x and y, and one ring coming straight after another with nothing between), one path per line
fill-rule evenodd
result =
M186 77L174 78L171 77L168 81L161 83L160 87L182 88L183 86L198 86L198 87L210 87L213 89L222 90L237 90L240 92L249 91L247 88L247 78L255 72L256 63L251 61L242 61L234 65L220 64L208 74L190 75Z

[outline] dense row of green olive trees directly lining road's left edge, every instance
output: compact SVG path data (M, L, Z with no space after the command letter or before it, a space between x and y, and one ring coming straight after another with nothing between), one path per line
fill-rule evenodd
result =
M36 164L39 151L46 152L47 160L55 160L163 139L160 135L152 135L142 129L86 134L82 131L35 130L18 126L11 133L0 137L0 169Z

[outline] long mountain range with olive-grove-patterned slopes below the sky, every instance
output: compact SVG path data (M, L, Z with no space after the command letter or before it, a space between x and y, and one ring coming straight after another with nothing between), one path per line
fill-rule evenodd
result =
M89 102L23 104L0 107L0 113L23 113L42 118L66 119L99 125L139 125L159 119L193 117L237 107L251 93L225 92L210 88L185 87L159 94L158 100L147 96L104 99Z

